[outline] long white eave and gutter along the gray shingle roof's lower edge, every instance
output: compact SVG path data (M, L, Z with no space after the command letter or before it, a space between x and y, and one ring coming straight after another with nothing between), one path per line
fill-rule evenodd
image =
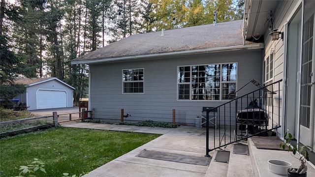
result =
M82 60L71 61L71 64L96 64L96 63L104 63L104 62L129 60L129 59L163 58L163 57L171 57L171 56L183 56L183 55L192 55L192 54L207 54L207 53L229 52L229 51L239 51L239 50L255 50L255 49L264 49L264 43L254 43L254 44L247 44L247 45L227 46L227 47L216 47L216 48L179 51L179 52L171 52L171 53L124 56L124 57L115 57L115 58L82 59Z

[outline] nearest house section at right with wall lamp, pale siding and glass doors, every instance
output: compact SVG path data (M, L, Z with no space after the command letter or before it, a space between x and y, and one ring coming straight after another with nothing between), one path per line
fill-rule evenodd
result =
M283 79L274 116L277 133L288 129L300 144L315 148L315 0L245 0L243 35L264 42L262 83ZM276 30L277 29L277 30ZM279 35L272 39L271 32ZM313 151L313 150L311 150ZM311 154L315 164L315 153Z

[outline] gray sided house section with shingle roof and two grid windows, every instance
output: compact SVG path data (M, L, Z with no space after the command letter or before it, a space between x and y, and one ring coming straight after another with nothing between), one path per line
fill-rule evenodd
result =
M245 41L243 21L131 35L71 61L88 64L89 108L95 118L130 118L193 125L252 79L262 80L264 44ZM257 89L248 85L242 95ZM158 116L157 116L158 115ZM160 116L163 117L163 116Z

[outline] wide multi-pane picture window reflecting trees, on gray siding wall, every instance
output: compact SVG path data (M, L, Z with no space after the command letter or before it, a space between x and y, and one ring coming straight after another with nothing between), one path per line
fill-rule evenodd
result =
M237 63L178 66L178 100L232 99Z

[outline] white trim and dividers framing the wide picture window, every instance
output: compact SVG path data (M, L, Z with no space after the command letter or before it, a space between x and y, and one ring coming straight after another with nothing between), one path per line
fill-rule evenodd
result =
M219 100L192 100L191 99L191 76L192 76L192 70L191 70L191 66L201 66L201 65L213 65L213 64L230 64L230 63L236 63L237 66L237 70L236 70L236 81L222 81L222 73L220 73L220 99ZM186 67L189 66L190 67L190 82L187 83L178 83L178 67ZM220 72L222 72L222 69L220 70ZM178 65L176 66L176 99L177 101L227 101L229 99L222 99L222 84L223 83L236 83L235 84L235 90L237 90L237 83L238 83L238 62L223 62L223 63L211 63L211 64L191 64L191 65ZM179 85L184 85L187 84L189 85L189 99L179 99ZM236 96L236 95L235 95Z

